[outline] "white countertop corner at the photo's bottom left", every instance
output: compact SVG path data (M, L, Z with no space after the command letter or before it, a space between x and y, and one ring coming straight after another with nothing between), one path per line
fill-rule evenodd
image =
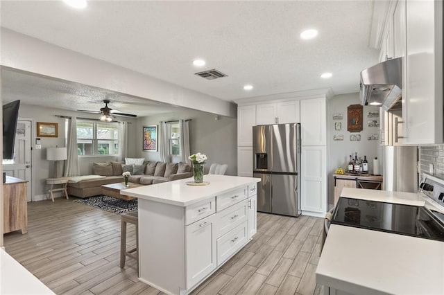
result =
M0 248L0 294L55 294Z

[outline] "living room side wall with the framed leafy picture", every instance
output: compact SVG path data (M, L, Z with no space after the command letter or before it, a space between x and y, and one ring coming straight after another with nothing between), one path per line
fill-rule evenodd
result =
M189 145L191 154L201 152L208 157L205 173L211 163L228 164L226 175L237 175L237 120L204 111L180 111L137 119L135 148L137 157L150 161L160 161L159 152L142 150L142 128L146 125L159 125L160 121L191 119L189 121Z

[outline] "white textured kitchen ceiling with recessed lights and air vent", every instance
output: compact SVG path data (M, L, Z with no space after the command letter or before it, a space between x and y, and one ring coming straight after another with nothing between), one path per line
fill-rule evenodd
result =
M377 50L368 48L372 12L373 1L364 0L89 1L85 10L62 1L2 1L1 26L231 101L328 87L359 91L359 71L377 62ZM317 28L318 37L302 41L305 28ZM196 57L207 65L196 69ZM194 75L213 68L228 77ZM333 77L319 78L325 71ZM247 83L253 91L244 91Z

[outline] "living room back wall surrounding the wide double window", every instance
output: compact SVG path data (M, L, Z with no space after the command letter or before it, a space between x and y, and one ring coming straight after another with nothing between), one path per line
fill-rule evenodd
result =
M76 111L65 111L62 109L49 109L43 107L36 107L34 105L20 105L19 117L31 118L33 123L31 124L33 129L33 135L31 138L31 144L33 146L32 151L32 193L34 199L42 199L47 197L49 186L46 185L46 178L53 175L53 161L46 160L46 148L65 146L65 118L58 118L55 115L62 116L77 116L81 118L97 118L94 114L85 114ZM120 119L120 118L119 118ZM119 120L117 119L117 120ZM130 142L135 141L135 127L136 120L134 118L122 118L132 124L128 125L128 140ZM42 149L35 150L35 138L37 137L37 122L51 122L58 123L58 137L41 137ZM134 157L135 146L128 145L128 156ZM116 157L99 156L99 157L81 157L80 163L80 175L92 174L92 162L105 162L115 161Z

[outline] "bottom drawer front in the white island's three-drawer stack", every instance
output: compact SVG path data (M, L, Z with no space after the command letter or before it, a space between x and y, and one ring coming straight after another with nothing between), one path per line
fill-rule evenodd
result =
M247 222L242 222L232 231L217 239L217 265L221 265L247 242Z

